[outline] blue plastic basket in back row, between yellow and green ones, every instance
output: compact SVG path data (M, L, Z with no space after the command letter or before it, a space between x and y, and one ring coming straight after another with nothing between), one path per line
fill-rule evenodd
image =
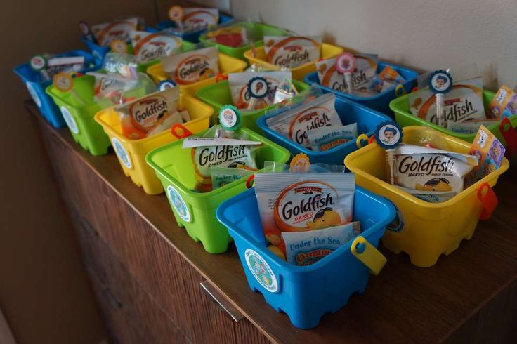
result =
M391 63L386 62L380 62L377 65L377 73L381 72L384 67L386 66L393 67L394 70L400 74L401 77L403 77L406 81L403 84L404 89L407 93L410 93L413 86L415 85L415 81L418 77L418 72L416 70L410 70L409 68L400 67L398 65L393 65ZM303 81L306 82L306 84L312 85L312 84L320 84L320 80L318 79L318 72L312 72L307 74ZM391 90L387 90L384 92L379 93L378 95L373 95L372 97L358 97L356 95L350 95L347 93L339 92L336 90L333 90L332 88L321 86L321 88L326 92L333 92L336 93L339 97L347 98L349 100L352 100L353 102L357 102L360 105L365 105L365 107L369 107L370 109L377 110L379 112L382 112L383 114L387 114L389 117L393 118L393 111L390 110L390 102L391 100L396 98L395 90L392 88Z

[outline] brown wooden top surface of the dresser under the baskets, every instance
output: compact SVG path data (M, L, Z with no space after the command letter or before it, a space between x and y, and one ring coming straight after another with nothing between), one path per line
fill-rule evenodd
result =
M27 101L27 108L41 119L34 103ZM365 293L353 295L341 310L323 316L315 329L300 330L292 326L287 315L275 312L260 293L249 289L233 244L226 253L207 253L185 230L178 228L164 194L149 196L124 176L114 152L92 157L74 142L67 128L52 130L92 173L97 173L116 190L273 341L428 343L450 340L500 293L507 289L517 291L517 211L514 211L515 205L512 206L517 194L516 157L495 187L499 206L490 220L478 224L471 240L464 240L450 256L441 256L435 266L428 268L415 267L404 253L396 255L380 246L388 263L379 276L370 277ZM512 301L517 302L517 299ZM516 318L513 317L512 322L513 319ZM512 325L517 327L517 324L509 324Z

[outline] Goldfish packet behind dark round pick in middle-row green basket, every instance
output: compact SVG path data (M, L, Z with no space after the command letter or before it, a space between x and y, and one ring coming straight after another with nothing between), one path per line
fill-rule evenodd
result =
M282 81L292 79L290 71L276 71L276 72L244 72L244 73L230 73L228 74L228 85L230 86L230 93L232 95L233 105L239 109L247 109L251 96L248 92L248 83L255 77L263 77L268 81L269 93L265 98L258 99L253 107L254 110L262 109L268 105L274 104L275 93L277 86Z

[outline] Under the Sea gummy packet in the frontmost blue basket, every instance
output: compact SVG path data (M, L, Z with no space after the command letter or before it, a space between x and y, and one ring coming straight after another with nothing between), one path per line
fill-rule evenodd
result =
M282 232L286 260L298 266L314 264L360 233L359 222L309 232Z

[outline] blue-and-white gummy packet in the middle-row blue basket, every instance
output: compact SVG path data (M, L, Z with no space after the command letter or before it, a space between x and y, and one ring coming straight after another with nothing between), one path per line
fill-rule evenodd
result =
M325 152L358 137L358 124L348 126L323 126L307 132L311 150Z

